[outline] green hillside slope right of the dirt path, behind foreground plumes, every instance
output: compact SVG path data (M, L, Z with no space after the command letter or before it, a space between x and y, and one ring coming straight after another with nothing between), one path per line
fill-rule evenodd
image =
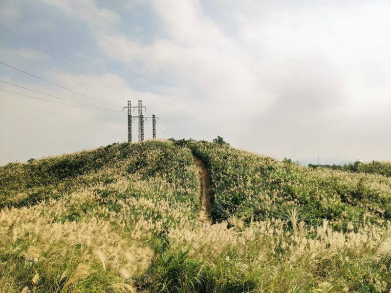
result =
M210 168L213 216L245 221L285 218L301 211L311 226L323 219L336 230L358 230L391 218L391 179L379 175L312 169L225 145L190 142ZM349 229L351 225L353 229Z

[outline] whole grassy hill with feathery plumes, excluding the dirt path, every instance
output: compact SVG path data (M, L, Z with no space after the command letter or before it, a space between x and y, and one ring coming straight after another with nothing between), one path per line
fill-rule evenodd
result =
M197 221L195 157L213 225ZM390 219L391 178L225 144L11 163L0 167L0 292L388 292Z

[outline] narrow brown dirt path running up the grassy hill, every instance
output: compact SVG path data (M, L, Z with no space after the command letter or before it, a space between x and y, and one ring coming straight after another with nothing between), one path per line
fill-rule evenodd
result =
M194 162L198 169L198 196L201 204L201 209L198 211L198 222L212 224L208 171L200 159L194 157Z

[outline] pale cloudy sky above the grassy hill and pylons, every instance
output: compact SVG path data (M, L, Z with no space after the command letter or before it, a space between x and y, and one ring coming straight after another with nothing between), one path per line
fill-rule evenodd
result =
M0 165L127 141L127 100L159 117L158 138L391 160L390 14L380 0L0 0L0 62L41 78L0 64Z

